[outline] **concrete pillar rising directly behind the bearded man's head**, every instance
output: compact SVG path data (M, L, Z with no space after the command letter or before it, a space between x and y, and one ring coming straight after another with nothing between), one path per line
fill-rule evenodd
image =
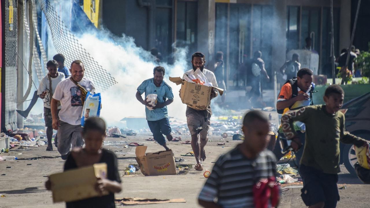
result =
M207 69L213 70L215 56L215 0L198 1L198 51L206 56ZM190 54L195 51L190 51Z

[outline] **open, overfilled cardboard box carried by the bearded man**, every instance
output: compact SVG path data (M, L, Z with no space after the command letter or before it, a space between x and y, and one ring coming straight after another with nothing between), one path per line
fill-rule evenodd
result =
M218 87L209 87L206 85L195 84L183 80L180 77L169 77L169 80L176 85L181 84L180 98L182 103L188 105L195 110L206 110L211 103L212 89L218 90L219 94L223 94L223 90Z

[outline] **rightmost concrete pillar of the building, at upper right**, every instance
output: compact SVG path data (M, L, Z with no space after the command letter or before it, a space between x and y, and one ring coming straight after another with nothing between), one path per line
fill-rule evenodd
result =
M335 34L335 33L334 33ZM351 0L340 0L339 48L348 48L351 41Z

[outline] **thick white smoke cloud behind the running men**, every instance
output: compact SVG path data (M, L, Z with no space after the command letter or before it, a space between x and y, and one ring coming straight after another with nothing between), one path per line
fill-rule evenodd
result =
M182 77L187 70L186 49L176 48L173 65L157 64L150 60L154 60L150 52L135 45L133 38L123 35L122 38L115 38L113 41L107 36L102 38L104 33L101 31L98 36L83 34L78 39L91 56L118 82L101 95L103 106L101 117L108 125L128 116L145 117L145 106L137 101L135 93L142 81L153 77L153 68L158 65L165 68L164 80L172 87L174 93L174 103L168 105L168 114L170 117L185 120L186 105L181 103L178 96L180 85L176 86L168 80L168 77Z

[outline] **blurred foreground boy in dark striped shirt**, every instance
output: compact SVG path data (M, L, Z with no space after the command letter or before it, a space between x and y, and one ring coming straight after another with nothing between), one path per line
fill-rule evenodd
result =
M242 130L243 143L218 158L199 194L199 204L205 208L254 208L255 184L262 178L275 178L276 158L266 149L268 118L260 111L250 111Z

